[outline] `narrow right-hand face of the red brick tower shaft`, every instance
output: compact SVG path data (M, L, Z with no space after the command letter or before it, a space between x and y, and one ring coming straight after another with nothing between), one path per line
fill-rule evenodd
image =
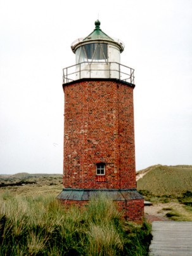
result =
M133 90L122 84L118 88L118 147L120 187L136 187Z

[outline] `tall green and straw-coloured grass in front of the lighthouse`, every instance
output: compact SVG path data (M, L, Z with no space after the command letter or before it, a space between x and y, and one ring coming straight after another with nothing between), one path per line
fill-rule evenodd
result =
M126 222L103 196L84 212L64 210L52 187L1 193L0 255L148 255L150 224Z

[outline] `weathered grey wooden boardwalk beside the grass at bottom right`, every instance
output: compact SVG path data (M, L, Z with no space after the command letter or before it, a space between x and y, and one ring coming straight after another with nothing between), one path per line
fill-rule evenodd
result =
M192 222L155 221L152 235L150 256L192 256Z

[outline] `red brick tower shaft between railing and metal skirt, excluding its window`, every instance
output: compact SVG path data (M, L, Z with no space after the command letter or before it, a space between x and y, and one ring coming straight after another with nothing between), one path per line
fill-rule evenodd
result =
M133 86L117 81L65 84L64 187L136 187ZM97 179L96 163L106 163Z

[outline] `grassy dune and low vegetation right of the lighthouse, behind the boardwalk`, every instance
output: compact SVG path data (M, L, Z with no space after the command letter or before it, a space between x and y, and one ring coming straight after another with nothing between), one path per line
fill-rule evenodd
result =
M142 173L144 175L142 175ZM175 221L192 221L192 166L150 166L139 172L138 189L152 203L167 203L160 211Z

